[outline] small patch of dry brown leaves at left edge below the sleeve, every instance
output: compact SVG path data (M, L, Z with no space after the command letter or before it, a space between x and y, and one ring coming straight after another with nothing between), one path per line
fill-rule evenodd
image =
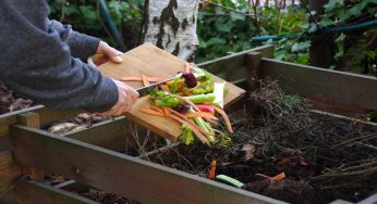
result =
M26 109L32 105L32 100L21 98L0 81L0 114Z

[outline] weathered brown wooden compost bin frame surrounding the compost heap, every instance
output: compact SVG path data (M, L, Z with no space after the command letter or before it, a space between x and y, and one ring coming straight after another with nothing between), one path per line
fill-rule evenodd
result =
M278 79L288 93L348 109L377 110L376 78L272 60L272 52L271 46L265 46L199 66L212 74L221 73L220 77L243 88L253 89L254 77L270 77ZM47 173L142 203L282 203L119 153L130 137L124 117L64 137L39 129L81 112L37 106L0 115L0 184L12 183L21 173L36 180ZM0 197L0 203L95 203L36 180L9 184L11 191ZM372 196L365 202L375 200Z

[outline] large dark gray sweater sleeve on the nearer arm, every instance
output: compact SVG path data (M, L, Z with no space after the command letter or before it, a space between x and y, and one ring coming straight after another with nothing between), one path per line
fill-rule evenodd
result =
M0 80L50 107L110 109L118 101L115 84L71 56L68 41L76 39L62 40L47 14L42 0L0 1Z

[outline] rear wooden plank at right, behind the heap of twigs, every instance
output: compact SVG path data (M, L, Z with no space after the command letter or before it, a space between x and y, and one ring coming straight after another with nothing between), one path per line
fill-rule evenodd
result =
M263 59L265 77L292 94L377 110L377 78Z

